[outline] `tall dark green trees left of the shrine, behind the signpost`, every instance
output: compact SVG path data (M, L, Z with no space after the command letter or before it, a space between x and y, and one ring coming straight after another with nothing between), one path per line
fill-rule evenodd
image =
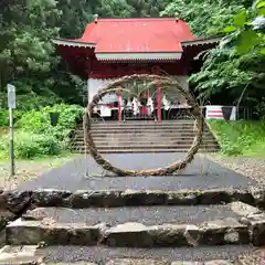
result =
M50 41L59 33L56 23L61 12L56 2L13 0L11 4L1 4L1 96L6 95L7 83L12 82L18 96L28 95L29 98L45 94L51 99L53 92L44 87L52 85L49 72L56 63L51 57L53 46Z

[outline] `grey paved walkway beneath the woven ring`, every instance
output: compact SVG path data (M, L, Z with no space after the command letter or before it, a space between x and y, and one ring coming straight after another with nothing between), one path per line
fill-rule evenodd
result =
M106 158L114 165L134 170L163 167L182 157L183 153L106 155ZM179 190L245 188L255 184L257 184L256 181L223 168L202 155L197 156L194 161L178 177L103 177L103 170L89 156L80 156L33 181L25 182L21 189L45 188L71 191L86 189Z

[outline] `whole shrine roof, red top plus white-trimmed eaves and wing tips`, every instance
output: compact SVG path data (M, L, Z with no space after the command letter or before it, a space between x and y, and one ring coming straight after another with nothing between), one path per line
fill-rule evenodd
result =
M219 39L193 36L188 23L182 20L136 18L96 19L87 24L81 39L57 39L53 42L59 46L86 49L87 55L95 54L99 61L124 62L176 61L189 46L204 50L208 44L215 45Z

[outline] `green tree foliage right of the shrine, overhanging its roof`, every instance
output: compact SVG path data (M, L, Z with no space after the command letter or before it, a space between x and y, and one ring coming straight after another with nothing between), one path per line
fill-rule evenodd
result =
M223 36L220 46L200 56L204 63L190 78L200 97L220 104L225 95L225 104L241 103L262 114L263 103L256 102L265 94L263 2L173 0L162 12L184 19L199 36Z

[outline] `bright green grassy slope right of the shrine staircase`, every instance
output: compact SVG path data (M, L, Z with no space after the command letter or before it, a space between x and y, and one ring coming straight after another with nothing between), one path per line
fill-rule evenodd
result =
M265 121L210 120L224 156L265 158Z

